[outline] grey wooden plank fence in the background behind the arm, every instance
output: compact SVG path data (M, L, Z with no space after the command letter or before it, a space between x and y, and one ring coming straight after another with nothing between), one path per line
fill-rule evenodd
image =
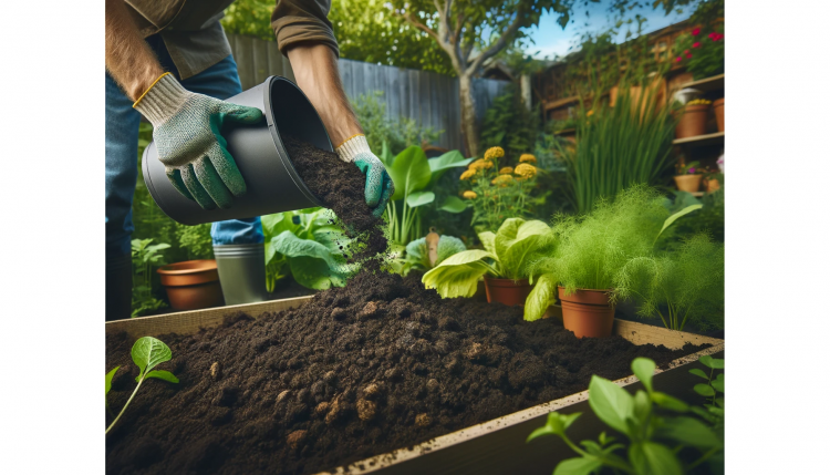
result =
M228 41L239 68L242 89L255 86L269 75L281 75L294 81L291 63L277 49L276 42L236 34L229 34ZM343 59L340 60L340 78L350 99L383 91L381 100L386 103L388 118L414 118L422 127L444 131L434 145L450 149L463 147L457 79L428 71ZM475 81L479 120L508 84L508 81L488 79Z

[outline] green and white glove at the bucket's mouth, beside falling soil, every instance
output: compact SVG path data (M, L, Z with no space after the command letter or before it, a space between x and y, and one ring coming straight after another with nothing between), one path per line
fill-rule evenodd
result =
M366 175L366 205L372 208L372 215L380 218L395 193L395 185L383 163L369 149L366 136L360 134L349 138L336 152L340 159L357 165L361 173Z

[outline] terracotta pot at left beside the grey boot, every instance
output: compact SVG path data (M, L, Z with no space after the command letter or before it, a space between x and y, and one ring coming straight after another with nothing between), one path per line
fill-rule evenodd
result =
M186 260L158 269L175 310L197 310L224 303L216 260Z

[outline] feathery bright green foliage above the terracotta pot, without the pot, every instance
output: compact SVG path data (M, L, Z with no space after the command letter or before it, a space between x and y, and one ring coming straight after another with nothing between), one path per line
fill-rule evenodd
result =
M529 266L531 279L538 281L525 304L525 320L541 318L560 285L569 295L577 289L611 291L618 272L632 258L652 256L661 234L699 207L693 205L668 216L654 188L636 185L613 202L600 199L587 215L557 215L550 233L541 238L542 242L556 242L553 251L538 252Z

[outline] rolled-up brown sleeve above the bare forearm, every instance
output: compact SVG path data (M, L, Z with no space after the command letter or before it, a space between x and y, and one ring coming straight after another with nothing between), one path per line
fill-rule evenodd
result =
M277 0L271 28L282 54L298 43L322 43L340 58L338 40L329 21L331 0Z

